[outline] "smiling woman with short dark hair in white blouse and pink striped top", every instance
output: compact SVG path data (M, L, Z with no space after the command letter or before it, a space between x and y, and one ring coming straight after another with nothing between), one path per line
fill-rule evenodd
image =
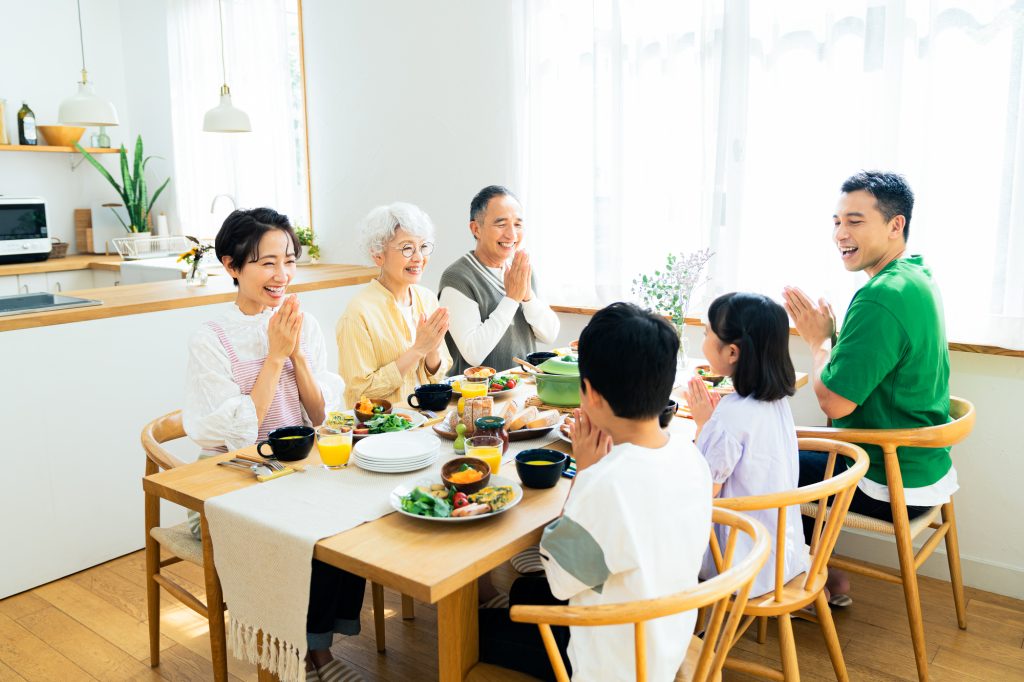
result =
M234 280L234 305L188 341L185 432L200 458L252 445L283 426L315 425L341 401L319 325L286 291L299 240L268 208L232 212L217 232L217 258ZM199 517L189 514L199 537ZM366 581L313 560L306 616L310 672L332 663L335 633L356 635Z

